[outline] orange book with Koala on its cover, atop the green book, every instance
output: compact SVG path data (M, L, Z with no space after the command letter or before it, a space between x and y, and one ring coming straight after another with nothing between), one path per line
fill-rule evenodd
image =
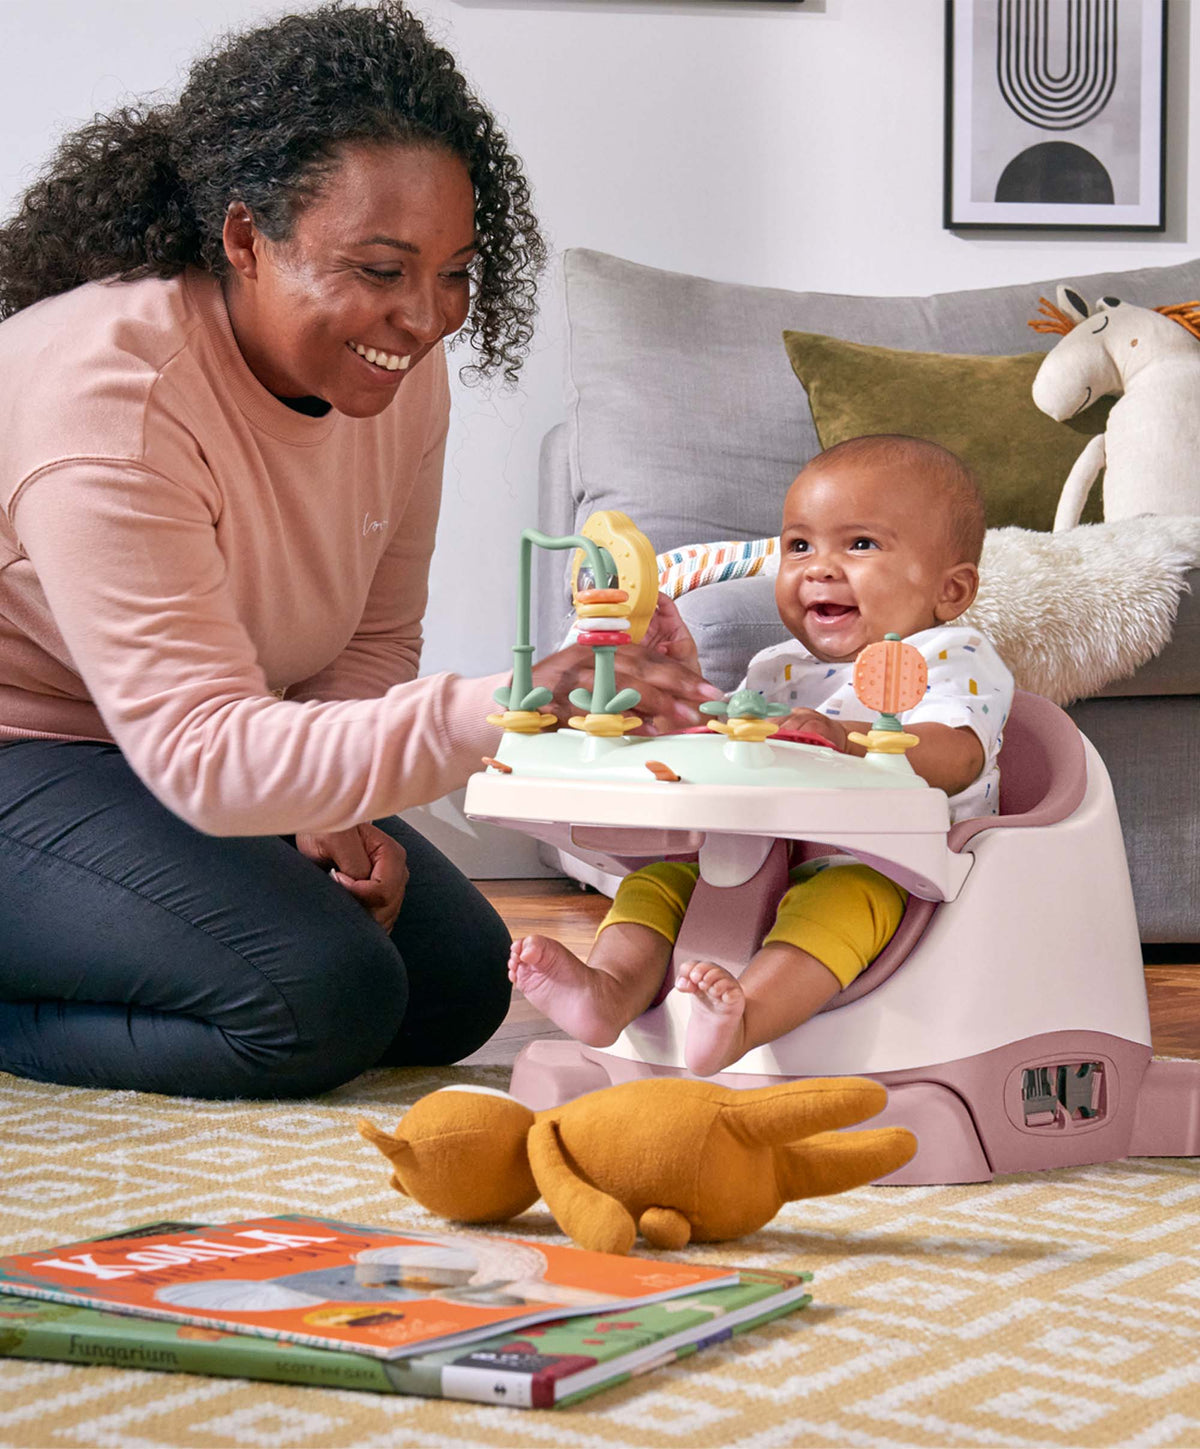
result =
M299 1213L0 1258L0 1293L386 1359L736 1282L723 1268Z

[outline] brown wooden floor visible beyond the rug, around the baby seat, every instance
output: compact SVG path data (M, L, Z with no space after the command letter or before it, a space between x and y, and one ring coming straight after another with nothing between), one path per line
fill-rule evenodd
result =
M574 881L480 881L480 890L504 917L514 936L538 932L554 936L586 956L606 897L584 891ZM1164 1056L1200 1059L1200 946L1146 946L1154 1049ZM520 997L496 1036L468 1062L512 1065L520 1048L536 1036L562 1036Z

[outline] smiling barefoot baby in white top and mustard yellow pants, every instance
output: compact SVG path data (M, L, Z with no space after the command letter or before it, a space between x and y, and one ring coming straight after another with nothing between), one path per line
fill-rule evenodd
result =
M1013 680L975 630L952 627L978 587L984 509L970 468L936 443L855 438L804 467L784 503L775 604L793 639L754 656L743 688L791 706L788 729L852 755L865 733L851 677L868 643L899 633L920 649L929 690L900 716L909 764L949 797L951 819L994 814ZM661 861L626 877L587 964L545 936L513 943L509 977L552 1022L607 1046L659 993L697 878ZM791 871L775 923L741 977L693 961L684 1059L723 1071L819 1011L883 951L907 900L848 855Z

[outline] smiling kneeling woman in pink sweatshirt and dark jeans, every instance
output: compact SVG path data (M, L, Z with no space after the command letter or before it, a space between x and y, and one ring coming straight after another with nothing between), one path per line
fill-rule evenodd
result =
M284 1097L500 1023L507 932L394 811L496 746L503 677L416 678L442 343L512 380L542 259L396 0L97 119L0 232L0 1068ZM658 640L651 713L712 693Z

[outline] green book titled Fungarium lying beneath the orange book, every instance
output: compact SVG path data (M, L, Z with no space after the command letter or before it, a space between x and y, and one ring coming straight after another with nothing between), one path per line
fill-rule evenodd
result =
M113 1236L199 1226L154 1223ZM739 1282L730 1287L538 1323L406 1359L6 1297L0 1300L0 1356L559 1408L812 1301L810 1274L736 1271Z

